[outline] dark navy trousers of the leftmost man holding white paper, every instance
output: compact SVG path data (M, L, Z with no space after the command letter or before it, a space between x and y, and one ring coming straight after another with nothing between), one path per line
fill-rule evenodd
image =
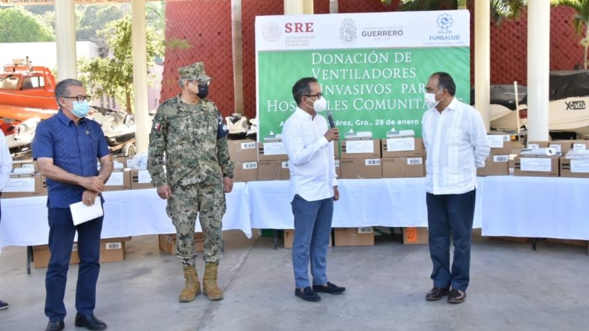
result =
M97 203L99 200L97 199ZM76 287L76 310L78 314L94 314L96 303L96 282L100 271L100 232L102 219L99 217L74 226L69 208L49 208L49 251L51 259L45 277L45 315L49 321L63 321L65 318L65 282L69 258L72 255L74 235L78 232L78 285Z

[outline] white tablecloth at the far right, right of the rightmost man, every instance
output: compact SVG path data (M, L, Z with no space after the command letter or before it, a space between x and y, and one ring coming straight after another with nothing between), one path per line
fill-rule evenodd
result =
M485 179L483 235L589 239L589 178Z

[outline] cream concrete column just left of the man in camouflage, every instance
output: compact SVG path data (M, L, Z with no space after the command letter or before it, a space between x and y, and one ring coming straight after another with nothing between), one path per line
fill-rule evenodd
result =
M133 45L133 105L135 114L135 142L137 152L149 146L149 105L147 103L147 46L145 41L145 1L131 0L133 17L131 33Z

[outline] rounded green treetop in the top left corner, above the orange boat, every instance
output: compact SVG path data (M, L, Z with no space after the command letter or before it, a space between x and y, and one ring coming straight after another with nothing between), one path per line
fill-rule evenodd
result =
M0 42L52 42L55 35L38 16L22 8L0 9Z

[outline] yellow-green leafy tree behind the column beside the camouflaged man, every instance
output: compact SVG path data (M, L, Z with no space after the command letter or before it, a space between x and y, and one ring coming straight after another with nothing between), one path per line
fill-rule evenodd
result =
M146 27L147 64L154 65L156 56L163 52L160 40L155 36L153 28ZM128 114L133 112L133 53L131 40L131 17L124 17L110 22L98 36L106 40L111 56L82 59L78 62L80 78L90 93L100 96L114 96L121 104L126 105Z

